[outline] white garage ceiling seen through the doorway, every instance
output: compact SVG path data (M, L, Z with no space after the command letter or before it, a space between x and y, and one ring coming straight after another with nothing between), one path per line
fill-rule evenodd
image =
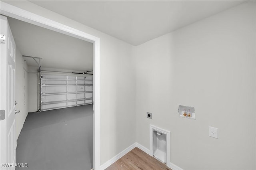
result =
M41 57L42 67L92 70L93 45L71 36L8 17L16 48L22 55ZM26 58L29 66L38 66Z

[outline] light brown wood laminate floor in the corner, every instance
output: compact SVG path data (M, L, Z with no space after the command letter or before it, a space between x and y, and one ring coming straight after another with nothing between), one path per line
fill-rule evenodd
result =
M134 148L106 170L171 170L156 158Z

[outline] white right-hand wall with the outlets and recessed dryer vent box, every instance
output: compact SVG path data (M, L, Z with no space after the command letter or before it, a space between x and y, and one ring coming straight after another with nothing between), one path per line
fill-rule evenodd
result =
M183 169L256 168L255 16L246 2L136 47L138 143L149 148L152 124L170 130L170 162Z

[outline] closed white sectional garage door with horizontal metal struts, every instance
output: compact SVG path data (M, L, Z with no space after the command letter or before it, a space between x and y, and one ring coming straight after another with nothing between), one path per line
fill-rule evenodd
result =
M92 104L92 75L41 72L41 111Z

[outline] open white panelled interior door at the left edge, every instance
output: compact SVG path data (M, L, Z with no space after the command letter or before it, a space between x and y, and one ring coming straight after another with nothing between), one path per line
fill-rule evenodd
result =
M7 18L2 15L0 32L0 169L12 170L15 169L17 144L15 139L15 43Z

